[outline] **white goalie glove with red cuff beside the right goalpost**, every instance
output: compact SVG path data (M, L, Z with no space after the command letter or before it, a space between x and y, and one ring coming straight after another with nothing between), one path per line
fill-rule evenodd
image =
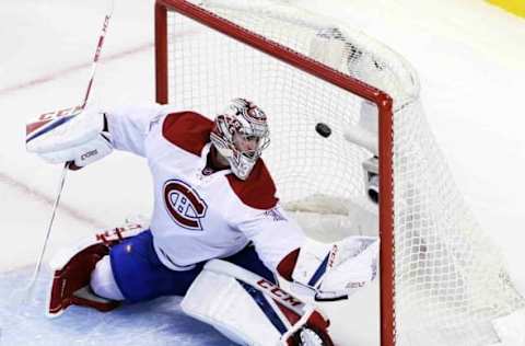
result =
M374 237L349 237L328 246L312 242L284 257L278 270L296 292L340 300L375 279L377 255Z

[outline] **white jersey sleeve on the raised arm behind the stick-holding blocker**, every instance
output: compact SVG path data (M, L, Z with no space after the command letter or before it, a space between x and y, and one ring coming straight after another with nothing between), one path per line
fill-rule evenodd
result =
M106 112L106 119L115 149L144 157L144 141L153 124L170 113L168 106L151 104L124 106Z

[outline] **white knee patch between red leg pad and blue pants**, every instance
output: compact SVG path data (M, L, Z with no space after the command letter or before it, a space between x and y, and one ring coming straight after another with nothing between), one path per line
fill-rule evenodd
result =
M91 273L90 286L96 296L112 300L125 299L113 275L109 256L104 256L96 263L95 269Z

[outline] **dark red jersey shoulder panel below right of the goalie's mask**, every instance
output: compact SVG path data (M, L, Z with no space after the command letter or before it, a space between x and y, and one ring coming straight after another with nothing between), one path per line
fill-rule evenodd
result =
M226 177L235 194L248 207L271 209L279 200L276 185L262 159L257 161L247 180L242 181L234 174L228 174Z

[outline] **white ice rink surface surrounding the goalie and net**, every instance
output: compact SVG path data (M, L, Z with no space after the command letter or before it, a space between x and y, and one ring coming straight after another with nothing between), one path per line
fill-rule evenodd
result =
M25 122L82 101L106 2L4 0L0 7L2 299L27 281L60 175L59 166L45 165L25 152ZM482 227L501 246L514 281L525 291L521 268L525 20L481 0L293 2L358 23L415 66L427 116L456 182ZM117 0L91 102L151 102L153 82L153 1ZM129 215L148 215L150 189L145 164L124 153L70 174L47 253L95 228L118 224ZM46 268L44 274L48 274ZM5 314L5 304L0 304L4 312L0 315L1 345L101 345L125 337L130 337L129 345L229 344L213 330L185 318L176 299L129 308L116 316L73 310L70 318L47 321L36 310L44 290L38 286L39 295L26 311L31 316L22 326L19 322L24 323L24 315ZM377 307L363 303L370 301L363 296L370 298L374 290L360 295L348 303L351 309L327 308L342 345L376 343ZM19 323L20 335L10 334L12 322ZM105 324L117 326L112 328L117 335L105 336ZM200 336L192 336L191 331Z

